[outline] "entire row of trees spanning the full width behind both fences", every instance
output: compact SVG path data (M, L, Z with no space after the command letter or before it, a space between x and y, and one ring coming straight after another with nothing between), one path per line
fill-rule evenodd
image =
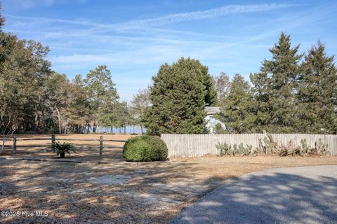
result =
M1 9L1 8L0 8ZM218 133L336 134L337 73L320 41L298 52L282 33L250 80L211 76L199 60L162 64L152 85L121 102L110 70L97 66L69 80L51 69L49 48L2 30L0 14L0 131L87 133L95 127L141 125L149 134L207 133L205 106L220 106Z

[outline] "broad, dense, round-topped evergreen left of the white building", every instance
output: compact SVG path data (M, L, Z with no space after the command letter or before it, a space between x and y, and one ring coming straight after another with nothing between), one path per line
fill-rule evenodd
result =
M204 133L205 106L216 102L208 68L196 59L180 58L161 65L152 77L145 127L150 134Z

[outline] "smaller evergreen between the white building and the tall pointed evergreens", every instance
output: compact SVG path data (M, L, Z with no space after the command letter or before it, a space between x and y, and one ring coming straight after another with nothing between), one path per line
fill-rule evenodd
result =
M222 120L227 130L234 133L253 132L256 116L249 82L236 74L230 85L230 92L221 101L221 111L217 117Z

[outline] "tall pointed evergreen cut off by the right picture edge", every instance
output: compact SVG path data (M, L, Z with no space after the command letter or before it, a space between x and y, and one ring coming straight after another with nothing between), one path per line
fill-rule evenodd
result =
M320 41L305 55L298 83L298 104L303 125L300 132L336 134L337 69Z

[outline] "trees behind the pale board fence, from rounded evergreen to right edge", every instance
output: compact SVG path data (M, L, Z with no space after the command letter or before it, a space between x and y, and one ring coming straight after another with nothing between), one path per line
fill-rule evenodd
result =
M180 58L152 78L143 122L152 134L202 134L205 106L220 106L218 133L337 133L337 73L321 41L298 52L282 32L258 73L248 80L225 73L211 77L206 66ZM211 82L210 82L211 78Z

